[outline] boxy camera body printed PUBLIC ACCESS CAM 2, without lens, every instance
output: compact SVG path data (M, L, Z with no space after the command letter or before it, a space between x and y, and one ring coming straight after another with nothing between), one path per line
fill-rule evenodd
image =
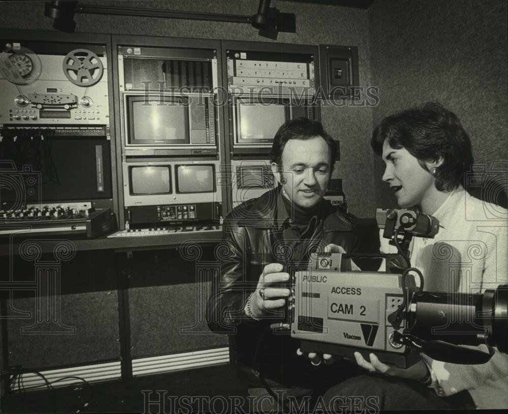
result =
M399 306L418 289L411 274L351 270L351 259L340 253L313 257L307 270L291 280L291 336L301 340L302 351L368 360L375 353L383 362L406 368L417 361L414 351L393 339L400 326L389 321ZM403 286L407 288L404 290Z

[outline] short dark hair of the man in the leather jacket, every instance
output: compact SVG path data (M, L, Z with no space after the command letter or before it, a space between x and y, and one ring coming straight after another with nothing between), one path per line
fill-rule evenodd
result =
M311 121L308 118L296 118L285 121L278 129L273 139L272 150L270 151L270 161L277 165L282 163L282 152L289 140L308 140L313 136L319 135L323 137L328 148L330 149L331 162L330 174L333 171L335 161L337 160L337 143L323 129L323 125L319 121Z

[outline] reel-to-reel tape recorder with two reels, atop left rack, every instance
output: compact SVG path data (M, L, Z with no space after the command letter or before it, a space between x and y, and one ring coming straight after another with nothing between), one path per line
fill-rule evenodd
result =
M62 45L4 45L0 124L109 124L106 47Z

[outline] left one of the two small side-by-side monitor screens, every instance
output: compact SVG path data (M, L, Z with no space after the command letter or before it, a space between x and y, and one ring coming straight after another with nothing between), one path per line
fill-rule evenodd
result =
M171 194L170 166L131 167L131 194Z

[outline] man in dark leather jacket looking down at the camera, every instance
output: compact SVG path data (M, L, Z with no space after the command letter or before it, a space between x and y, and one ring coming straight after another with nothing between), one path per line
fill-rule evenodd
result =
M307 268L312 252L351 252L358 245L353 224L323 199L336 155L337 145L320 122L285 122L270 152L280 185L239 205L224 222L231 255L221 263L218 294L208 303L208 325L215 332L234 332L232 359L251 395L266 397L266 389L283 387L285 397L300 398L355 369L348 362L332 368L316 359L312 365L297 355L298 341L289 330L270 328L287 321L290 273ZM253 408L277 408L267 405L267 398L264 403Z

